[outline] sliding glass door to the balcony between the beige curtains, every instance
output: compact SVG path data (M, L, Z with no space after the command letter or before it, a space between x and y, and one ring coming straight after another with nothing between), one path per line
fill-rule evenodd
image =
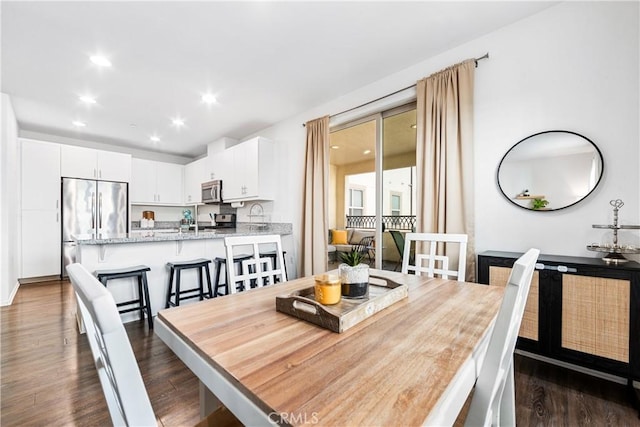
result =
M393 270L400 252L390 231L415 224L415 104L336 126L330 141L329 228L374 235L367 260Z

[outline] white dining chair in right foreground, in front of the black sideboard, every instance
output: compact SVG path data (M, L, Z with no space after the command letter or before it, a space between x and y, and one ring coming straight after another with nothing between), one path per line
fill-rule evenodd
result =
M513 352L539 254L529 249L513 264L465 426L516 425Z

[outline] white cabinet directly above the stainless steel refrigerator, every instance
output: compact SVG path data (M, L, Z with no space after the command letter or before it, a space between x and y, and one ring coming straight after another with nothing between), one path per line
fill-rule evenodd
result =
M64 177L129 182L131 155L62 145L60 168Z

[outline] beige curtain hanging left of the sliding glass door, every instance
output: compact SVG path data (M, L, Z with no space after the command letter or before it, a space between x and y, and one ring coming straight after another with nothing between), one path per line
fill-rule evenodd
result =
M329 116L306 123L302 276L327 270L327 203L329 184Z

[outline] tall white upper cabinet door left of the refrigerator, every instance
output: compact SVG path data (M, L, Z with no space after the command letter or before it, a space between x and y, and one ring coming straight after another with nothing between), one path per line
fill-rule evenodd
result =
M60 145L21 140L22 209L60 208Z

